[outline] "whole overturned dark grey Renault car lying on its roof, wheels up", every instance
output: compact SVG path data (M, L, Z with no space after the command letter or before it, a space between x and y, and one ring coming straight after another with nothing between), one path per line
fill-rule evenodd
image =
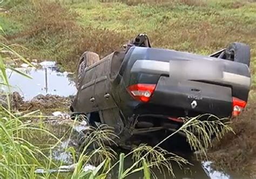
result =
M147 35L139 34L102 60L93 52L81 56L70 109L85 114L92 126L113 127L119 144L138 133L175 131L183 124L180 117L231 118L246 106L249 66L245 44L204 56L152 48Z

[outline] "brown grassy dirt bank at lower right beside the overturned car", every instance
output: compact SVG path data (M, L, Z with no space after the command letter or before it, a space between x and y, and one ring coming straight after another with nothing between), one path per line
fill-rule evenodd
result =
M256 176L256 102L251 97L246 110L231 126L235 134L228 133L213 142L208 157L215 167Z

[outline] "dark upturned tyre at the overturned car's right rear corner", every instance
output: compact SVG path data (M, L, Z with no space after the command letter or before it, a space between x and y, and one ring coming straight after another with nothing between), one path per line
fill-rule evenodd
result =
M239 42L233 42L228 46L227 50L234 54L235 62L244 63L250 67L250 46Z

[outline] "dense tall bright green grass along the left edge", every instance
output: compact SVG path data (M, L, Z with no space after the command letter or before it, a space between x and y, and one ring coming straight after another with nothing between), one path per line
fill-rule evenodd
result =
M3 37L1 39L3 39ZM10 46L6 46L0 42L0 52L2 51L9 51L24 62L29 63L22 58L21 55L13 51ZM25 140L23 136L30 130L40 129L35 128L30 124L24 124L22 122L24 116L17 116L16 113L11 111L11 88L8 82L6 66L2 55L0 55L0 69L1 85L8 87L8 90L5 91L4 94L1 94L1 96L6 96L8 108L4 108L2 105L0 106L0 177L33 178L35 176L33 175L33 170L35 167L41 166L41 162L38 161L37 155L42 155L45 158L46 156L38 147L33 146L29 141ZM28 77L28 75L23 74L21 71L14 68L10 69Z

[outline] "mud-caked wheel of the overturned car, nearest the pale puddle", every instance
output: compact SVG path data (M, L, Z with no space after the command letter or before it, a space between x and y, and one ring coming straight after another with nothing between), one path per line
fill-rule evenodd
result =
M82 82L85 68L91 66L93 63L96 63L97 61L99 61L99 55L94 52L84 52L83 55L80 56L76 76L77 89L80 87L80 83Z

